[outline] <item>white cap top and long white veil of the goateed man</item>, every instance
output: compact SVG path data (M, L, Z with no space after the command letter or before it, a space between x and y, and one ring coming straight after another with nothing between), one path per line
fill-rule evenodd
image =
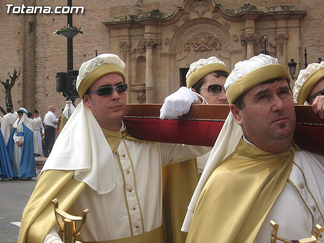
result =
M277 63L277 59L264 54L252 57L250 60L240 61L236 63L233 71L229 74L229 76L226 79L224 85L225 90L227 90L239 78L254 71L255 69ZM235 147L242 135L242 129L236 123L232 112L229 112L226 121L222 127L222 130L217 137L211 155L208 158L203 174L201 174L198 185L193 193L181 231L189 231L194 208L196 206L201 190L203 190L203 187L205 186L207 180L209 179L213 171L222 163L222 161L228 155L234 152Z

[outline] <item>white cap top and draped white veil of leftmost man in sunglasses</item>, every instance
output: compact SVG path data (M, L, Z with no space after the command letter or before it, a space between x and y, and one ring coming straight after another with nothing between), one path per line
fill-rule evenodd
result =
M118 56L101 54L81 65L77 87L84 85L82 82L89 75L91 79L87 80L86 86L93 84L93 79L98 79L95 75L98 69L101 69L98 75L103 76L102 73L106 71L102 71L105 69L102 65L106 63L112 63L115 68L119 66L121 71L125 68L125 63ZM111 70L107 71L112 73ZM57 138L42 172L45 170L74 170L75 180L85 182L99 194L115 188L116 169L111 148L96 118L83 101L77 105Z

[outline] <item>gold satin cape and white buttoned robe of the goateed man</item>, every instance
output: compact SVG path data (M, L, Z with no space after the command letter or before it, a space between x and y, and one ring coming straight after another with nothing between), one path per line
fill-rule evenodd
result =
M228 170L226 170L225 162L219 167L221 168L221 174L217 173L219 169L216 169L211 175L197 201L186 242L269 242L271 237L270 220L274 220L279 224L278 235L280 237L290 239L310 237L315 224L323 224L322 214L318 212L324 211L321 198L323 191L319 188L319 185L324 182L324 156L308 151L295 152L295 162L292 166L285 169L292 168L289 170L289 177L286 177L288 182L283 184L282 191L278 194L272 205L273 196L269 196L268 192L264 193L264 188L268 188L267 190L271 191L276 190L278 186L275 181L282 180L280 178L285 177L280 176L274 180L274 177L270 176L268 179L265 177L266 180L264 180L264 175L268 174L266 169L268 166L266 164L264 165L265 167L260 167L261 170L257 169L257 167L255 168L255 166L247 166L250 154L251 157L256 156L253 153L255 146L242 140L238 146L240 146L241 152L245 151L244 153L248 156L246 157L247 160L242 162L244 164L241 166L239 164L230 164L231 167ZM259 148L257 151L262 155ZM269 156L267 154L270 153L265 152L263 156L267 158ZM259 158L262 158L260 155L258 155ZM231 155L233 158L235 156L235 153ZM304 163L305 161L306 163ZM258 166L258 163L255 165ZM269 170L270 168L272 166L268 167ZM223 179L218 179L219 183L215 183L219 176ZM226 178L228 177L233 178L232 180L234 181L240 181L240 185L237 185L241 188L239 191L228 191L227 183L231 183L231 180L227 181ZM246 183L239 178L245 178ZM265 186L259 184L258 180L266 182ZM270 184L272 181L274 184ZM306 187L306 181L309 189ZM304 186L301 186L301 184ZM233 186L232 183L230 185ZM300 192L297 192L294 187L300 187ZM301 187L304 189L301 189ZM242 190L247 191L249 195L241 193ZM251 193L254 190L260 190L259 195ZM305 200L305 204L299 193ZM311 195L314 196L315 200ZM248 201L249 203L247 203ZM261 204L258 201L261 201ZM255 206L256 204L257 206ZM253 208L253 206L255 207ZM271 207L270 211L267 210L269 206ZM263 208L261 209L261 207ZM309 212L307 208L310 208L313 212ZM260 217L260 215L256 217L257 211L262 212L262 214L265 213L265 216ZM242 228L244 230L241 230Z

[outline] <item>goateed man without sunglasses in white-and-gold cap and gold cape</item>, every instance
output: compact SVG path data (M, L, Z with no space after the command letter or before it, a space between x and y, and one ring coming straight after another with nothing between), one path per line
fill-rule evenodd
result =
M186 242L267 242L270 220L288 239L310 237L323 225L324 157L293 141L289 80L270 56L235 64L225 84L231 112L188 207ZM232 117L244 133L235 150Z

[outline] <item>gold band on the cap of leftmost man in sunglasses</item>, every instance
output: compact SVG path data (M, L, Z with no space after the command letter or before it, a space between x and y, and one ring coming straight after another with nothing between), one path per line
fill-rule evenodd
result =
M77 92L79 93L80 99L82 99L82 97L92 84L94 84L100 77L109 73L119 73L121 76L123 76L124 83L126 82L126 77L123 68L114 63L104 63L93 69L81 80L77 88Z

